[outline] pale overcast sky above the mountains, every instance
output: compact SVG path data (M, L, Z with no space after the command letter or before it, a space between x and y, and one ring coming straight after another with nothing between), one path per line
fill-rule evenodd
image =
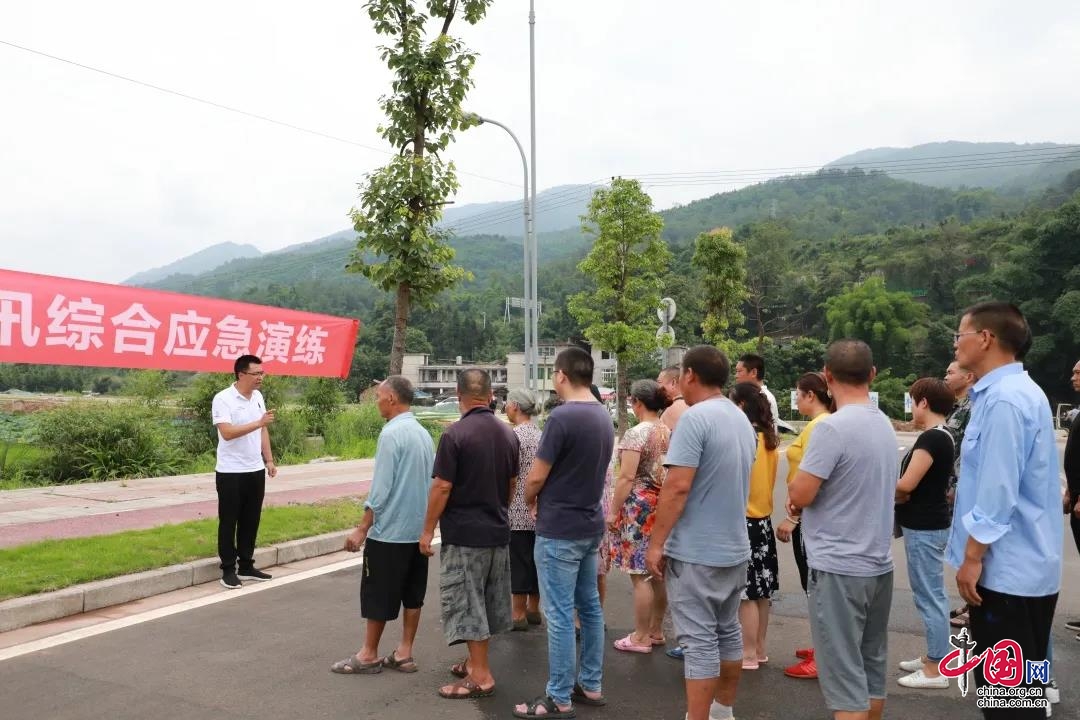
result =
M538 0L539 187L821 165L936 140L1080 142L1080 3ZM528 144L528 2L455 29L470 109ZM0 41L383 148L361 0L0 4ZM0 267L117 282L225 241L347 228L387 155L0 44ZM498 128L451 148L457 202L512 200ZM502 182L496 181L502 180ZM658 208L725 186L656 188Z

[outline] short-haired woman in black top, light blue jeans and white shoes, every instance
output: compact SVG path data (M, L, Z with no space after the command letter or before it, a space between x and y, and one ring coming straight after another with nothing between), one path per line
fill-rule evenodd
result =
M949 653L948 596L945 593L945 545L951 520L948 501L953 475L953 435L945 418L953 410L954 394L944 380L922 378L910 389L912 417L923 432L901 465L896 483L896 522L904 531L907 576L915 607L927 634L927 654L904 661L905 688L948 688L937 665Z

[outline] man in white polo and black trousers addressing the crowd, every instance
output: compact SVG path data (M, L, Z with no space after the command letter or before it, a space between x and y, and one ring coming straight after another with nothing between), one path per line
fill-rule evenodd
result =
M259 392L266 375L262 361L241 355L232 370L237 381L215 395L212 406L217 427L217 554L221 585L228 589L239 588L242 580L270 580L255 569L255 536L267 474L278 474L267 431L273 410L267 410Z

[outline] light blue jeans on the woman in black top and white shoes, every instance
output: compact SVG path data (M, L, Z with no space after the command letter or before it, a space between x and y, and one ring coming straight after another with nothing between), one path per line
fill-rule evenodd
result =
M945 595L945 544L948 529L904 528L907 578L915 608L927 629L927 657L940 661L951 650L948 643L948 596Z

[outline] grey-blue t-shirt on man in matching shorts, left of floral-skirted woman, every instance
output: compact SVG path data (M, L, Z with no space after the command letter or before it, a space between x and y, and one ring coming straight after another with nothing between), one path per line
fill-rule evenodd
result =
M746 499L756 451L754 427L726 397L696 403L679 416L664 464L697 470L664 555L712 568L750 559Z

